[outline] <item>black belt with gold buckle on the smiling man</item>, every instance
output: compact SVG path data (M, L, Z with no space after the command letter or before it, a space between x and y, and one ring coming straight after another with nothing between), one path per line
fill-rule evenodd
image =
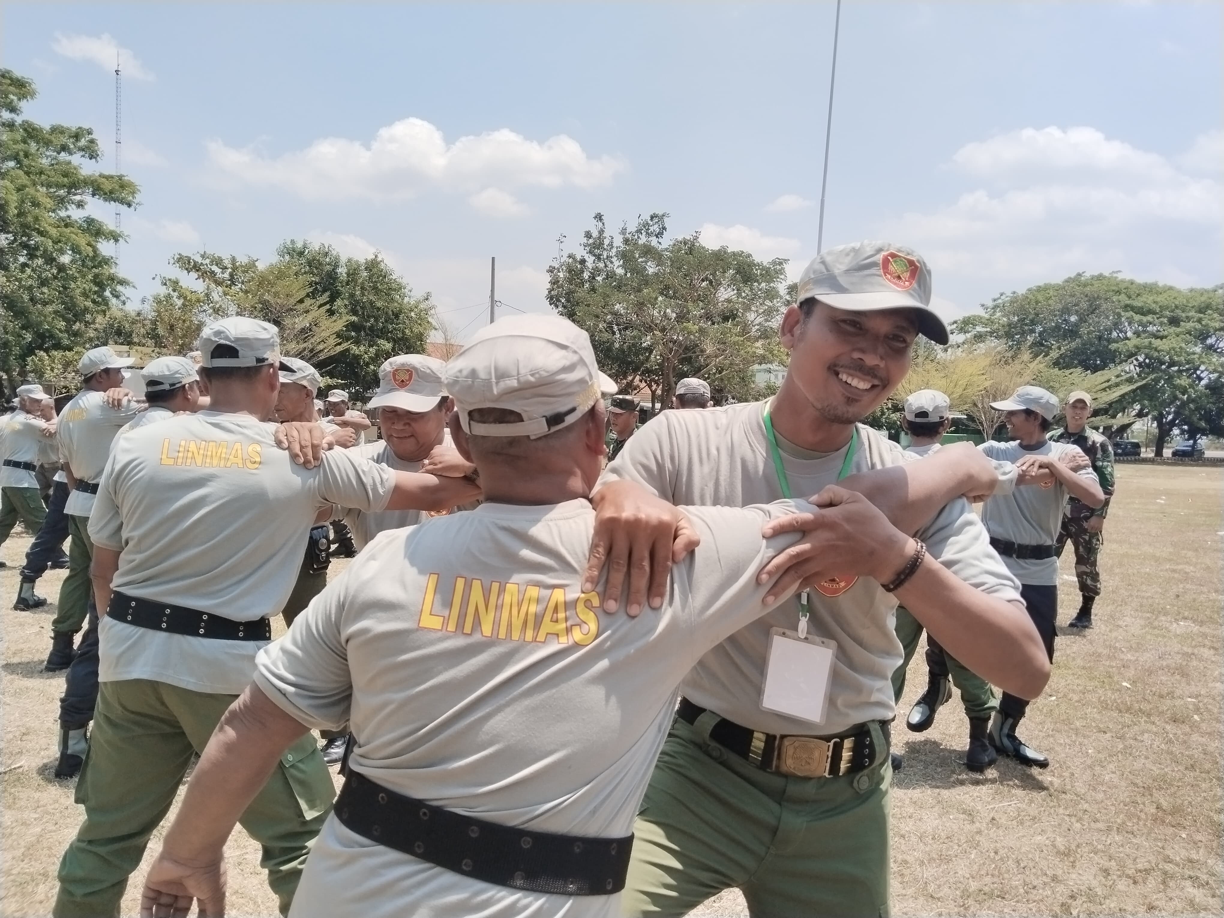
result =
M693 704L687 698L681 698L676 711L677 716L689 725L696 723L696 718L705 712L705 707ZM889 725L880 722L880 728L885 742L889 742L891 732ZM763 771L794 777L853 775L875 764L875 742L867 726L848 737L821 739L761 733L720 717L710 731L710 738Z

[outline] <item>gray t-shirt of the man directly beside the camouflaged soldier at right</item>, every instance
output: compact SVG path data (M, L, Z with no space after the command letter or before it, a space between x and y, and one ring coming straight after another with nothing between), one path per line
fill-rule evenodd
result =
M1069 443L1047 441L1038 449L1024 449L1018 441L996 443L988 441L978 447L995 460L1016 463L1026 455L1049 455L1059 459L1069 452L1080 452ZM1076 472L1089 481L1097 480L1097 472L1089 465ZM1026 485L1017 487L1010 494L994 494L982 507L982 521L995 539L1006 539L1020 545L1054 545L1062 528L1062 507L1067 501L1067 490L1054 480L1047 485ZM1059 581L1059 559L1032 559L1004 557L1004 563L1022 584L1056 585Z

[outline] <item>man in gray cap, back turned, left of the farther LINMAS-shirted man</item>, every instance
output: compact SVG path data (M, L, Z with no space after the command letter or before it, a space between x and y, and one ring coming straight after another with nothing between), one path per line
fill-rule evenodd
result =
M93 542L89 541L88 525L98 480L110 455L110 442L144 409L131 397L131 392L120 388L122 370L131 365L131 357L120 357L110 348L86 351L77 365L81 392L60 412L56 436L71 492L64 506L71 542L69 574L60 586L59 611L51 622L48 672L67 670L72 663L72 641L89 613Z

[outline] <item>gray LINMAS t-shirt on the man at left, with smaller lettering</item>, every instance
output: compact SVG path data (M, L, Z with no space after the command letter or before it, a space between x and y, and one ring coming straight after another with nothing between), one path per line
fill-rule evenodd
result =
M122 552L113 589L242 622L278 613L301 567L319 509L378 509L395 472L335 449L304 469L245 414L200 411L115 441L89 519L95 546ZM258 641L163 634L105 617L102 682L157 679L196 692L240 693Z

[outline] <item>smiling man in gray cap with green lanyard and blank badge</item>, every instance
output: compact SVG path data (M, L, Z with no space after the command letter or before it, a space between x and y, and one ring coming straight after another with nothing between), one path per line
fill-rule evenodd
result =
M665 411L606 477L638 482L676 504L739 507L905 463L898 446L859 422L905 377L919 334L947 343L930 308L925 262L885 242L841 246L804 269L797 299L782 319L791 361L772 399ZM953 446L914 465L976 461L972 453ZM994 488L996 472L988 471ZM640 510L612 483L596 492L595 504L607 534L601 551L614 551L641 525ZM819 531L819 518L814 525ZM958 590L906 597L906 607L976 672L1036 696L1044 677L1031 677L1048 673L1049 663L1020 585L968 501L952 499L917 537ZM636 824L630 914L682 916L731 886L742 889L754 914L887 913L891 677L902 660L897 599L870 578L809 579L812 589L728 636L684 679ZM630 591L630 608L639 602ZM771 629L800 622L835 647L819 718L761 703L774 666ZM1010 636L999 640L984 622L1005 624ZM1009 673L1000 668L1005 660L1023 662ZM865 745L870 765L856 771L845 750Z

